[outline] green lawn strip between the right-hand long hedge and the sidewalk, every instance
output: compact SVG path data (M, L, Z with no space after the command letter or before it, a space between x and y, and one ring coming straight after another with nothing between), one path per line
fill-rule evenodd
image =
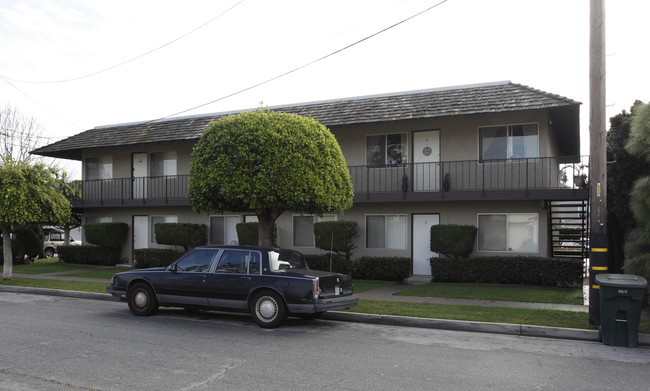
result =
M355 282L356 284L356 282ZM430 283L396 293L397 296L446 297L582 305L582 288L526 285Z

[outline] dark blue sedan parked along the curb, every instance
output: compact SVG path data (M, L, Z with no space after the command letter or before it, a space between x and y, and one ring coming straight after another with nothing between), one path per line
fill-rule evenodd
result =
M158 306L249 312L264 328L359 301L349 275L310 270L298 251L240 246L198 247L166 268L118 273L106 290L139 316Z

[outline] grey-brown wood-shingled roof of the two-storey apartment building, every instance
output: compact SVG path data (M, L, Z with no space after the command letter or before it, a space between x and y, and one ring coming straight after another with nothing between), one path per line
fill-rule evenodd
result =
M311 117L325 126L402 121L469 114L549 109L566 151L579 151L579 102L506 82L344 98L270 107L271 110ZM244 110L242 110L244 111ZM81 160L81 151L180 140L198 140L210 124L229 113L100 126L32 153ZM568 145L567 145L568 143ZM577 153L576 153L577 154Z

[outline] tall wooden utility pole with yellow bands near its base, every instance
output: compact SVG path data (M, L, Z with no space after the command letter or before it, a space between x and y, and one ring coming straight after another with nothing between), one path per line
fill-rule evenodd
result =
M600 287L607 273L605 0L590 0L589 18L589 322L600 324Z

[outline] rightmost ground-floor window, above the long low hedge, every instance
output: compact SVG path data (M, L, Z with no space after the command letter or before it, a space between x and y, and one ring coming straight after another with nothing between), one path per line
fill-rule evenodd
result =
M478 250L536 253L539 249L536 213L480 214Z

